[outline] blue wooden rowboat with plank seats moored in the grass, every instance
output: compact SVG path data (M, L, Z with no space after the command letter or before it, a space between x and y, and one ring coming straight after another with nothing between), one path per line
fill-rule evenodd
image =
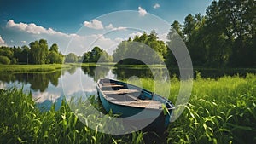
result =
M148 124L148 129L165 130L170 123L174 109L172 102L147 89L108 78L99 79L96 89L107 112L112 111L122 118L144 112L136 119L142 121L154 118L152 123Z

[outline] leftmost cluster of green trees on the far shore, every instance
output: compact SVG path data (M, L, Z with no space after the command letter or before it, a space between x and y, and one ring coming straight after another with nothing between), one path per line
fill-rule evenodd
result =
M45 39L29 43L29 47L0 47L0 63L2 64L53 64L62 63L64 55L59 52L56 43L50 48Z

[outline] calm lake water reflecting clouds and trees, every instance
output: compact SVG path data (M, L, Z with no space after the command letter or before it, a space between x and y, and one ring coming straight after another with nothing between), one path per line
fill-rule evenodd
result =
M216 78L224 74L234 75L239 73L245 75L246 71L241 72L222 72L219 70L200 71L203 78ZM154 74L153 74L154 73ZM170 75L177 75L178 71L169 72ZM32 92L32 97L37 101L38 107L49 109L52 102L56 106L61 105L61 100L75 95L95 95L96 81L99 78L127 79L131 76L138 78L158 78L166 79L169 74L165 69L132 69L132 68L111 68L111 67L76 67L63 71L50 73L1 73L0 89L11 87L21 88L26 93ZM255 72L253 72L255 73ZM153 77L154 75L154 77ZM56 108L57 108L56 107Z

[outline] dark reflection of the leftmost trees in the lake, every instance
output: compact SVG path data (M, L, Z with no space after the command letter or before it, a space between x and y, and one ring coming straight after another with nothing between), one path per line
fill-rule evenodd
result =
M22 83L31 84L31 89L44 92L48 88L49 83L57 86L61 71L51 73L1 73L0 81L3 83Z

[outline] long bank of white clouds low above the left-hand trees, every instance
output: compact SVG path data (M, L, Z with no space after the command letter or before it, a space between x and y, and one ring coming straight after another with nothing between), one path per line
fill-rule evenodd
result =
M111 49L113 45L120 42L119 38L108 38L104 37L102 34L67 34L64 32L55 32L51 28L47 29L43 26L37 26L36 24L26 24L22 22L15 23L14 20L9 20L6 27L7 29L5 29L5 31L12 30L17 32L18 35L22 35L22 37L14 37L15 39L13 39L14 41L11 44L22 46L29 42L44 38L48 41L49 45L57 43L61 53L64 55L71 52L76 55L83 55L84 52L92 49L94 46L99 46L102 49L108 50ZM106 28L107 27L112 28L111 30L125 30L125 27L114 27L112 24L106 26Z

